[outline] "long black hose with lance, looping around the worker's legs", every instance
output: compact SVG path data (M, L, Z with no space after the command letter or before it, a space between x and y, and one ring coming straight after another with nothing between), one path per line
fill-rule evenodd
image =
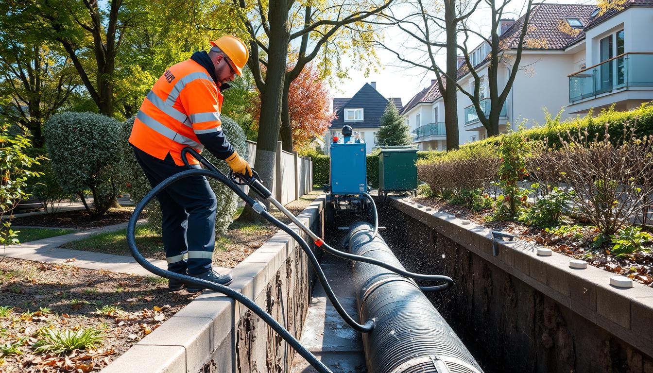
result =
M257 194L261 195L264 199L268 199L270 203L274 204L283 214L288 216L302 231L306 232L308 235L313 238L315 241L315 244L321 248L323 248L325 251L328 253L331 253L332 255L336 255L338 257L342 257L345 259L349 260L355 260L355 261L363 261L364 263L369 263L372 265L378 265L379 267L386 268L387 270L391 270L393 272L396 272L398 274L401 274L402 276L410 277L410 278L417 278L419 280L428 280L428 281L440 281L440 282L445 282L445 284L441 285L436 285L432 287L424 287L425 291L435 291L435 290L441 290L441 289L446 289L447 287L451 286L453 284L453 280L449 278L448 276L439 276L439 275L426 275L426 274L414 274L412 272L407 272L403 268L397 268L393 267L391 265L387 265L386 263L383 263L381 261L377 261L372 258L368 257L362 257L359 255L353 255L350 253L345 253L344 251L336 250L334 248L331 248L327 244L324 243L324 241L319 238L315 233L313 233L310 229L308 229L303 223L301 223L296 217L289 212L283 204L279 203L272 197L272 193L261 184L257 178L250 178L249 180L247 178L244 178L243 176L238 176L241 180L245 180L245 182L238 182L236 178L234 177L233 174L230 174L230 177L225 176L222 172L220 172L215 165L210 163L208 160L206 160L204 157L199 155L195 150L191 148L185 148L182 151L182 159L187 163L187 157L186 154L190 153L198 159L202 165L204 165L207 169L190 169L190 170L184 170L182 172L179 172L178 174L174 174L167 178L166 180L163 180L159 185L153 187L151 191L143 197L143 199L136 204L136 208L129 219L129 223L127 224L127 244L129 245L129 250L131 251L132 255L136 259L136 262L138 264L142 265L142 267L146 268L153 274L156 274L157 276L161 276L164 278L168 279L174 279L178 280L180 282L184 282L185 284L191 284L191 285L197 285L198 287L204 287L206 289L211 289L213 291L217 291L219 293L223 293L227 295L228 297L231 297L234 300L238 300L238 302L241 302L244 306L252 310L257 316L261 317L263 321L265 321L274 331L279 333L279 336L283 338L288 344L294 348L308 363L310 363L315 369L317 369L321 373L331 373L331 371L327 368L327 366L323 365L316 357L313 355L308 349L304 348L298 340L295 339L295 337L290 334L288 331L286 331L281 324L278 323L274 319L274 317L270 316L267 312L265 312L261 307L259 307L253 300L248 299L241 293L238 293L237 291L232 290L231 288L221 285L221 284L216 284L215 282L209 282L206 280L202 280L199 278L183 275L183 274L178 274L175 272L170 272L168 270L165 270L163 268L156 267L155 265L152 265L150 262L147 261L147 259L138 251L138 248L136 247L136 237L135 237L135 229L136 229L136 221L138 221L138 217L144 210L145 206L158 194L161 193L163 189L165 189L167 186L170 184L182 179L182 178L187 178L190 176L208 176L211 178L215 178L225 184L227 187L232 189L238 197L240 197L245 203L249 204L252 206L252 208L261 214L264 219L275 225L276 227L279 227L282 231L285 233L288 233L295 241L300 245L302 250L306 253L308 256L311 265L315 269L315 272L317 274L317 277L320 281L320 283L323 285L325 292L327 293L327 297L329 300L331 300L332 304L334 305L334 308L336 308L336 312L349 324L353 329L355 329L358 332L370 332L372 329L374 329L374 321L369 320L365 324L360 324L357 323L343 308L342 304L338 301L336 298L335 293L331 289L330 285L328 284L328 280L321 269L319 262L317 261L317 258L315 257L315 254L313 251L311 251L310 247L306 243L306 241L298 235L291 227L288 225L285 225L278 219L274 218L274 216L270 215L265 209L265 207L259 203L258 201L255 201L255 199L249 197L244 191L242 191L238 185L244 185L247 184L250 187L252 187L253 190L257 192ZM370 201L372 201L371 196L368 197ZM374 201L372 201L374 204ZM376 214L376 206L374 206L374 211ZM375 225L377 227L377 225Z

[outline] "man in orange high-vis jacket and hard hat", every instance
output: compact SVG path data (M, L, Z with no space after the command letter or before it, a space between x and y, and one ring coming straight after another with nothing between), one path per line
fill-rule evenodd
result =
M129 137L138 163L152 187L189 169L182 161L186 146L206 148L239 174L251 176L251 167L229 144L221 128L220 110L227 82L242 75L249 58L243 41L231 35L211 42L210 52L195 52L190 59L165 71L140 106ZM187 156L190 168L197 159ZM168 270L228 285L230 274L212 268L215 245L215 194L204 176L183 178L157 195L163 214L163 246ZM184 284L170 280L170 291ZM187 291L203 289L189 285Z

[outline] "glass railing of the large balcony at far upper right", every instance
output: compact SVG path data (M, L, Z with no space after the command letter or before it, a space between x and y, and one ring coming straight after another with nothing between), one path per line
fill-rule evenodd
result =
M569 75L569 102L653 87L653 52L630 52Z

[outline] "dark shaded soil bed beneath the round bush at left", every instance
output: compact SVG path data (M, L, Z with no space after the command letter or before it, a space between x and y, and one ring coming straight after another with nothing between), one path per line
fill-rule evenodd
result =
M12 219L12 225L22 227L56 227L56 228L76 228L76 229L93 229L125 223L131 217L134 211L133 206L110 208L106 214L99 218L89 216L86 210L74 210L57 212L54 215L33 215L22 218ZM145 214L141 218L145 218Z

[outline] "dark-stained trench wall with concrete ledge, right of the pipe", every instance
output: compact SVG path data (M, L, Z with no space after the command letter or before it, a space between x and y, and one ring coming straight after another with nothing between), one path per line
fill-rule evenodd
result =
M407 268L454 279L428 297L485 372L653 372L650 287L613 287L614 274L571 269L571 258L539 257L523 241L493 257L489 229L407 200L381 210L382 234Z

